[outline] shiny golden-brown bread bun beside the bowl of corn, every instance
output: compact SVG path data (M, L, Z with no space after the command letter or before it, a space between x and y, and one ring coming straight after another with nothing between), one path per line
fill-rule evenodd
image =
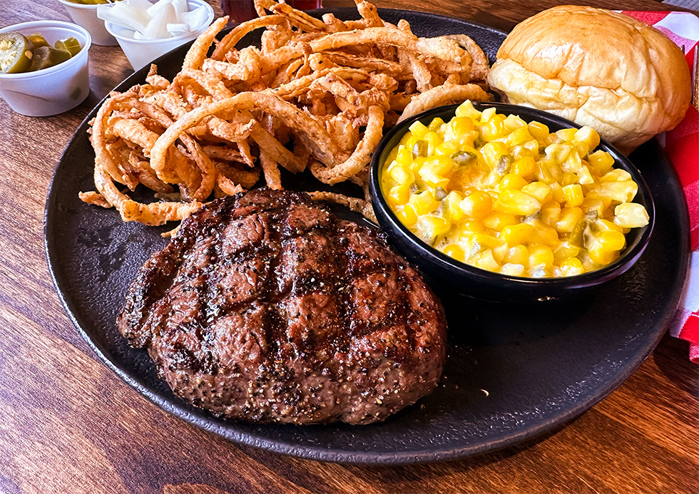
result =
M623 153L677 125L687 61L657 29L613 11L557 6L507 36L488 76L510 103L590 125Z

